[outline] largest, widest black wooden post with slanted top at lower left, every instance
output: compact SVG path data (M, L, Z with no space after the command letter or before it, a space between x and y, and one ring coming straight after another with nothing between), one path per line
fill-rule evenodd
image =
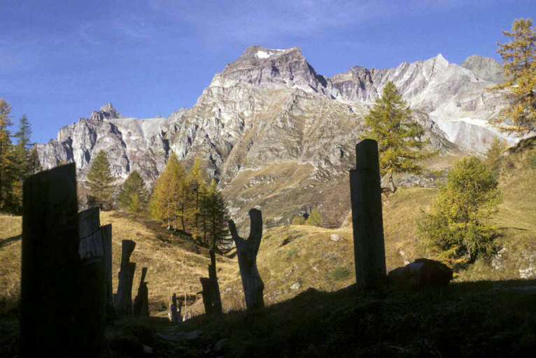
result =
M29 176L22 206L20 356L78 357L75 164Z

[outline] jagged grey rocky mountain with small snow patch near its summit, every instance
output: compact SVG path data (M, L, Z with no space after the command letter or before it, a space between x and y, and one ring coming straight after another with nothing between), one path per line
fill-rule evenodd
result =
M94 155L105 150L118 182L133 170L153 181L171 151L187 162L200 156L238 220L252 206L261 206L274 224L320 206L335 225L346 216L346 176L363 116L389 80L414 108L434 148L486 148L494 135L487 120L502 106L486 88L498 78L488 76L491 62L469 63L464 68L439 55L325 78L298 48L254 46L216 74L189 110L140 120L122 117L108 104L62 128L38 152L45 168L76 162L84 180Z

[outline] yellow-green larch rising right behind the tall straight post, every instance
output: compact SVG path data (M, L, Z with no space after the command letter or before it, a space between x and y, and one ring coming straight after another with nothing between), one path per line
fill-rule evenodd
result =
M428 143L421 141L424 129L411 119L411 109L392 82L383 87L383 94L376 99L365 123L369 127L365 136L378 142L382 176L387 176L390 191L395 192L393 173L418 173L418 161L431 155L423 152Z

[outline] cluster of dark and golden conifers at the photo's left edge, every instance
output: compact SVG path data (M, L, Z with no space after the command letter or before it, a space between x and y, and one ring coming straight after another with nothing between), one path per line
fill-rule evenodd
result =
M22 212L22 181L41 171L34 143L31 143L31 125L22 115L18 130L11 134L13 120L11 106L0 98L0 212ZM14 141L13 141L14 140Z

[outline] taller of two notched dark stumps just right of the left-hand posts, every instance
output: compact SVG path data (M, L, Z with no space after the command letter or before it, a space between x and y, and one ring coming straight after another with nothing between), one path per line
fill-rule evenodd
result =
M130 262L130 255L132 255L135 247L136 243L132 240L122 241L118 292L115 294L115 313L117 315L132 314L132 280L134 280L136 264Z

